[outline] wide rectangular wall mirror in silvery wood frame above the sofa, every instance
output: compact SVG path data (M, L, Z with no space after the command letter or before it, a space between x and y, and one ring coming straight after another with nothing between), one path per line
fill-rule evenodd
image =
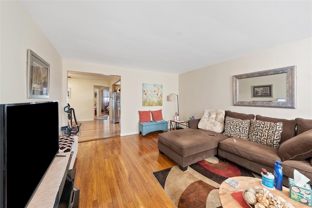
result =
M235 106L296 108L296 66L233 76Z

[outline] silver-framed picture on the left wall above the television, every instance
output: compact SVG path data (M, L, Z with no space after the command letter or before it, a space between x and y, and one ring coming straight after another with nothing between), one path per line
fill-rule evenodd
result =
M28 98L49 97L50 64L32 50L27 50Z

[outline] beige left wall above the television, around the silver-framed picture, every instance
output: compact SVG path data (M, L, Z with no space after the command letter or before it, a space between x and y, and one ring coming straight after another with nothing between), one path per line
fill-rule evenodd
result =
M56 100L61 108L62 93L65 93L62 58L18 1L1 0L0 10L0 103ZM50 64L49 98L27 98L27 49ZM59 117L62 114L59 109ZM48 118L42 112L44 119Z

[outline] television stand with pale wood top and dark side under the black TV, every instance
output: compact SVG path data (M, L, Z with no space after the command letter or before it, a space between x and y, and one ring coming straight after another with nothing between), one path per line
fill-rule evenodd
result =
M70 201L67 203L71 204L69 207L78 208L79 189L74 185L72 189L68 189L71 187L68 186L68 183L74 184L76 174L76 169L68 170L73 152L59 153L59 155L63 156L54 158L27 208L62 208L66 204L63 201L60 203L64 195L70 196Z

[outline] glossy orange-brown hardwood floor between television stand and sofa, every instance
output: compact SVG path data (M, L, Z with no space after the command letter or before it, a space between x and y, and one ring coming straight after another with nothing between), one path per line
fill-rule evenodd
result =
M81 136L85 132L98 136L96 128ZM153 175L177 165L158 152L159 132L79 142L74 165L79 208L175 208Z

